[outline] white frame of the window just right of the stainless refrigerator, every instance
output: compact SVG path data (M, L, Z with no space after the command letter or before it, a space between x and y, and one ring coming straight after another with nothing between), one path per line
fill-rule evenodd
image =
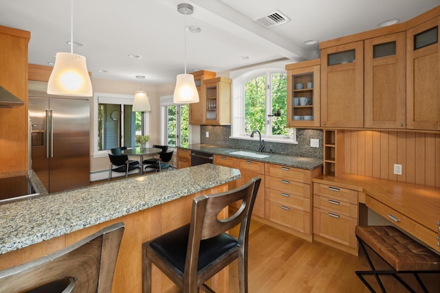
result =
M99 104L116 104L122 105L133 105L134 100L133 95L120 95L112 93L94 93L94 113L93 113L93 127L94 127L94 138L93 138L93 156L94 158L100 158L103 156L108 156L109 150L98 150L98 105ZM124 115L124 107L121 108L121 117ZM142 113L142 119L144 121L144 134L148 134L149 130L149 113ZM124 119L121 119L121 130L124 130ZM121 134L120 143L124 141L124 134Z

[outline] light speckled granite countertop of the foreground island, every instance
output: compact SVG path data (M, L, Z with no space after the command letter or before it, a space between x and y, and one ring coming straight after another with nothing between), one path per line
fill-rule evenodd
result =
M203 164L0 205L0 254L195 194L240 178Z

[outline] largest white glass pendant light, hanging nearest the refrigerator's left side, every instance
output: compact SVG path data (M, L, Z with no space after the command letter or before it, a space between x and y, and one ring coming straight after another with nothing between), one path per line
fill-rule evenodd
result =
M91 97L93 90L85 57L74 54L74 0L72 0L70 16L70 53L56 54L54 69L47 84L47 93Z

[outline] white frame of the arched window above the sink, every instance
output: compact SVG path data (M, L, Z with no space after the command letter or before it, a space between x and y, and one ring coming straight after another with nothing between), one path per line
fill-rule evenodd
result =
M268 75L268 73L270 75ZM230 76L232 78L232 102L231 102L231 136L232 139L248 139L248 140L259 140L259 137L250 137L250 133L245 133L244 121L245 121L245 83L257 78L261 75L266 76L267 80L270 80L268 76L272 76L272 73L283 73L287 74L285 71L285 64L281 62L279 66L261 66L256 67L251 70L241 70L236 72L231 72ZM287 93L286 93L287 94ZM287 97L287 96L286 96ZM267 109L272 109L272 89L270 93L267 93L266 84L266 115ZM287 109L286 109L287 110ZM267 117L265 122L265 128L267 129L267 119L272 117ZM290 128L289 135L273 135L273 134L261 134L261 139L265 141L272 141L278 143L294 143L298 144L296 140L296 128Z

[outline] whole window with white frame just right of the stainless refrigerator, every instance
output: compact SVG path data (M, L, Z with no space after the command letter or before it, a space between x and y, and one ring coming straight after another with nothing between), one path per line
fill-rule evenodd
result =
M135 134L148 134L148 113L132 112L133 95L94 95L94 156L111 148L134 146Z

